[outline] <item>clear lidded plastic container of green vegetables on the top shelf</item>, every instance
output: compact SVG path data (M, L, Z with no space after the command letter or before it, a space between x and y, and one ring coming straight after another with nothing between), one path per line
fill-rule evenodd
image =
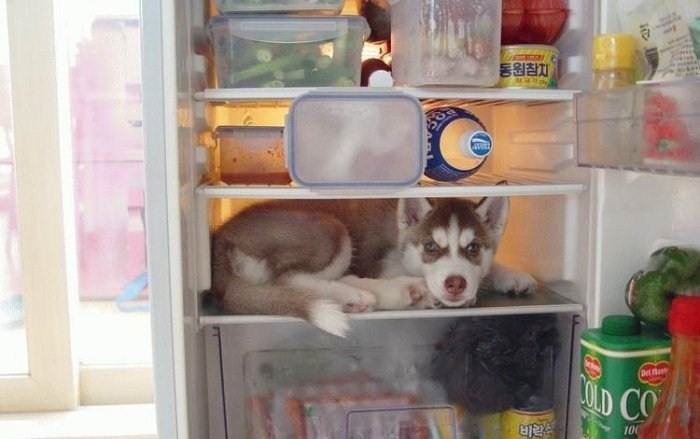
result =
M220 15L208 28L218 88L360 85L362 17Z

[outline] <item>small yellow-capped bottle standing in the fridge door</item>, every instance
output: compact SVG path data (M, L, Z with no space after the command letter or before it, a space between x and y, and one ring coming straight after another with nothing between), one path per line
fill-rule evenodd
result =
M621 33L594 36L593 89L607 90L634 83L634 36Z

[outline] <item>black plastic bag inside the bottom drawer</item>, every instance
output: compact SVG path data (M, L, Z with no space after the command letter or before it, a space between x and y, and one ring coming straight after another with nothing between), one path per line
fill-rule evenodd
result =
M551 407L553 360L559 333L551 315L475 317L450 327L436 346L432 378L450 403L483 414Z

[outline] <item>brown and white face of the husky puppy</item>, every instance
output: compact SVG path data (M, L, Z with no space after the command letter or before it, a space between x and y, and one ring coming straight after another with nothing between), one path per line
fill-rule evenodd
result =
M483 204L483 203L482 203ZM498 209L502 209L502 204ZM476 294L493 263L502 226L489 218L500 210L466 200L439 200L402 231L403 263L425 277L437 304L465 307Z

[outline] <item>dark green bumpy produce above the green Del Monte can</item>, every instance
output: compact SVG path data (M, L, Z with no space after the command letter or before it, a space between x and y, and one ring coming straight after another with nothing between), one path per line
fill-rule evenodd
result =
M645 323L665 326L674 296L700 294L700 251L676 246L656 250L625 290L632 314Z

